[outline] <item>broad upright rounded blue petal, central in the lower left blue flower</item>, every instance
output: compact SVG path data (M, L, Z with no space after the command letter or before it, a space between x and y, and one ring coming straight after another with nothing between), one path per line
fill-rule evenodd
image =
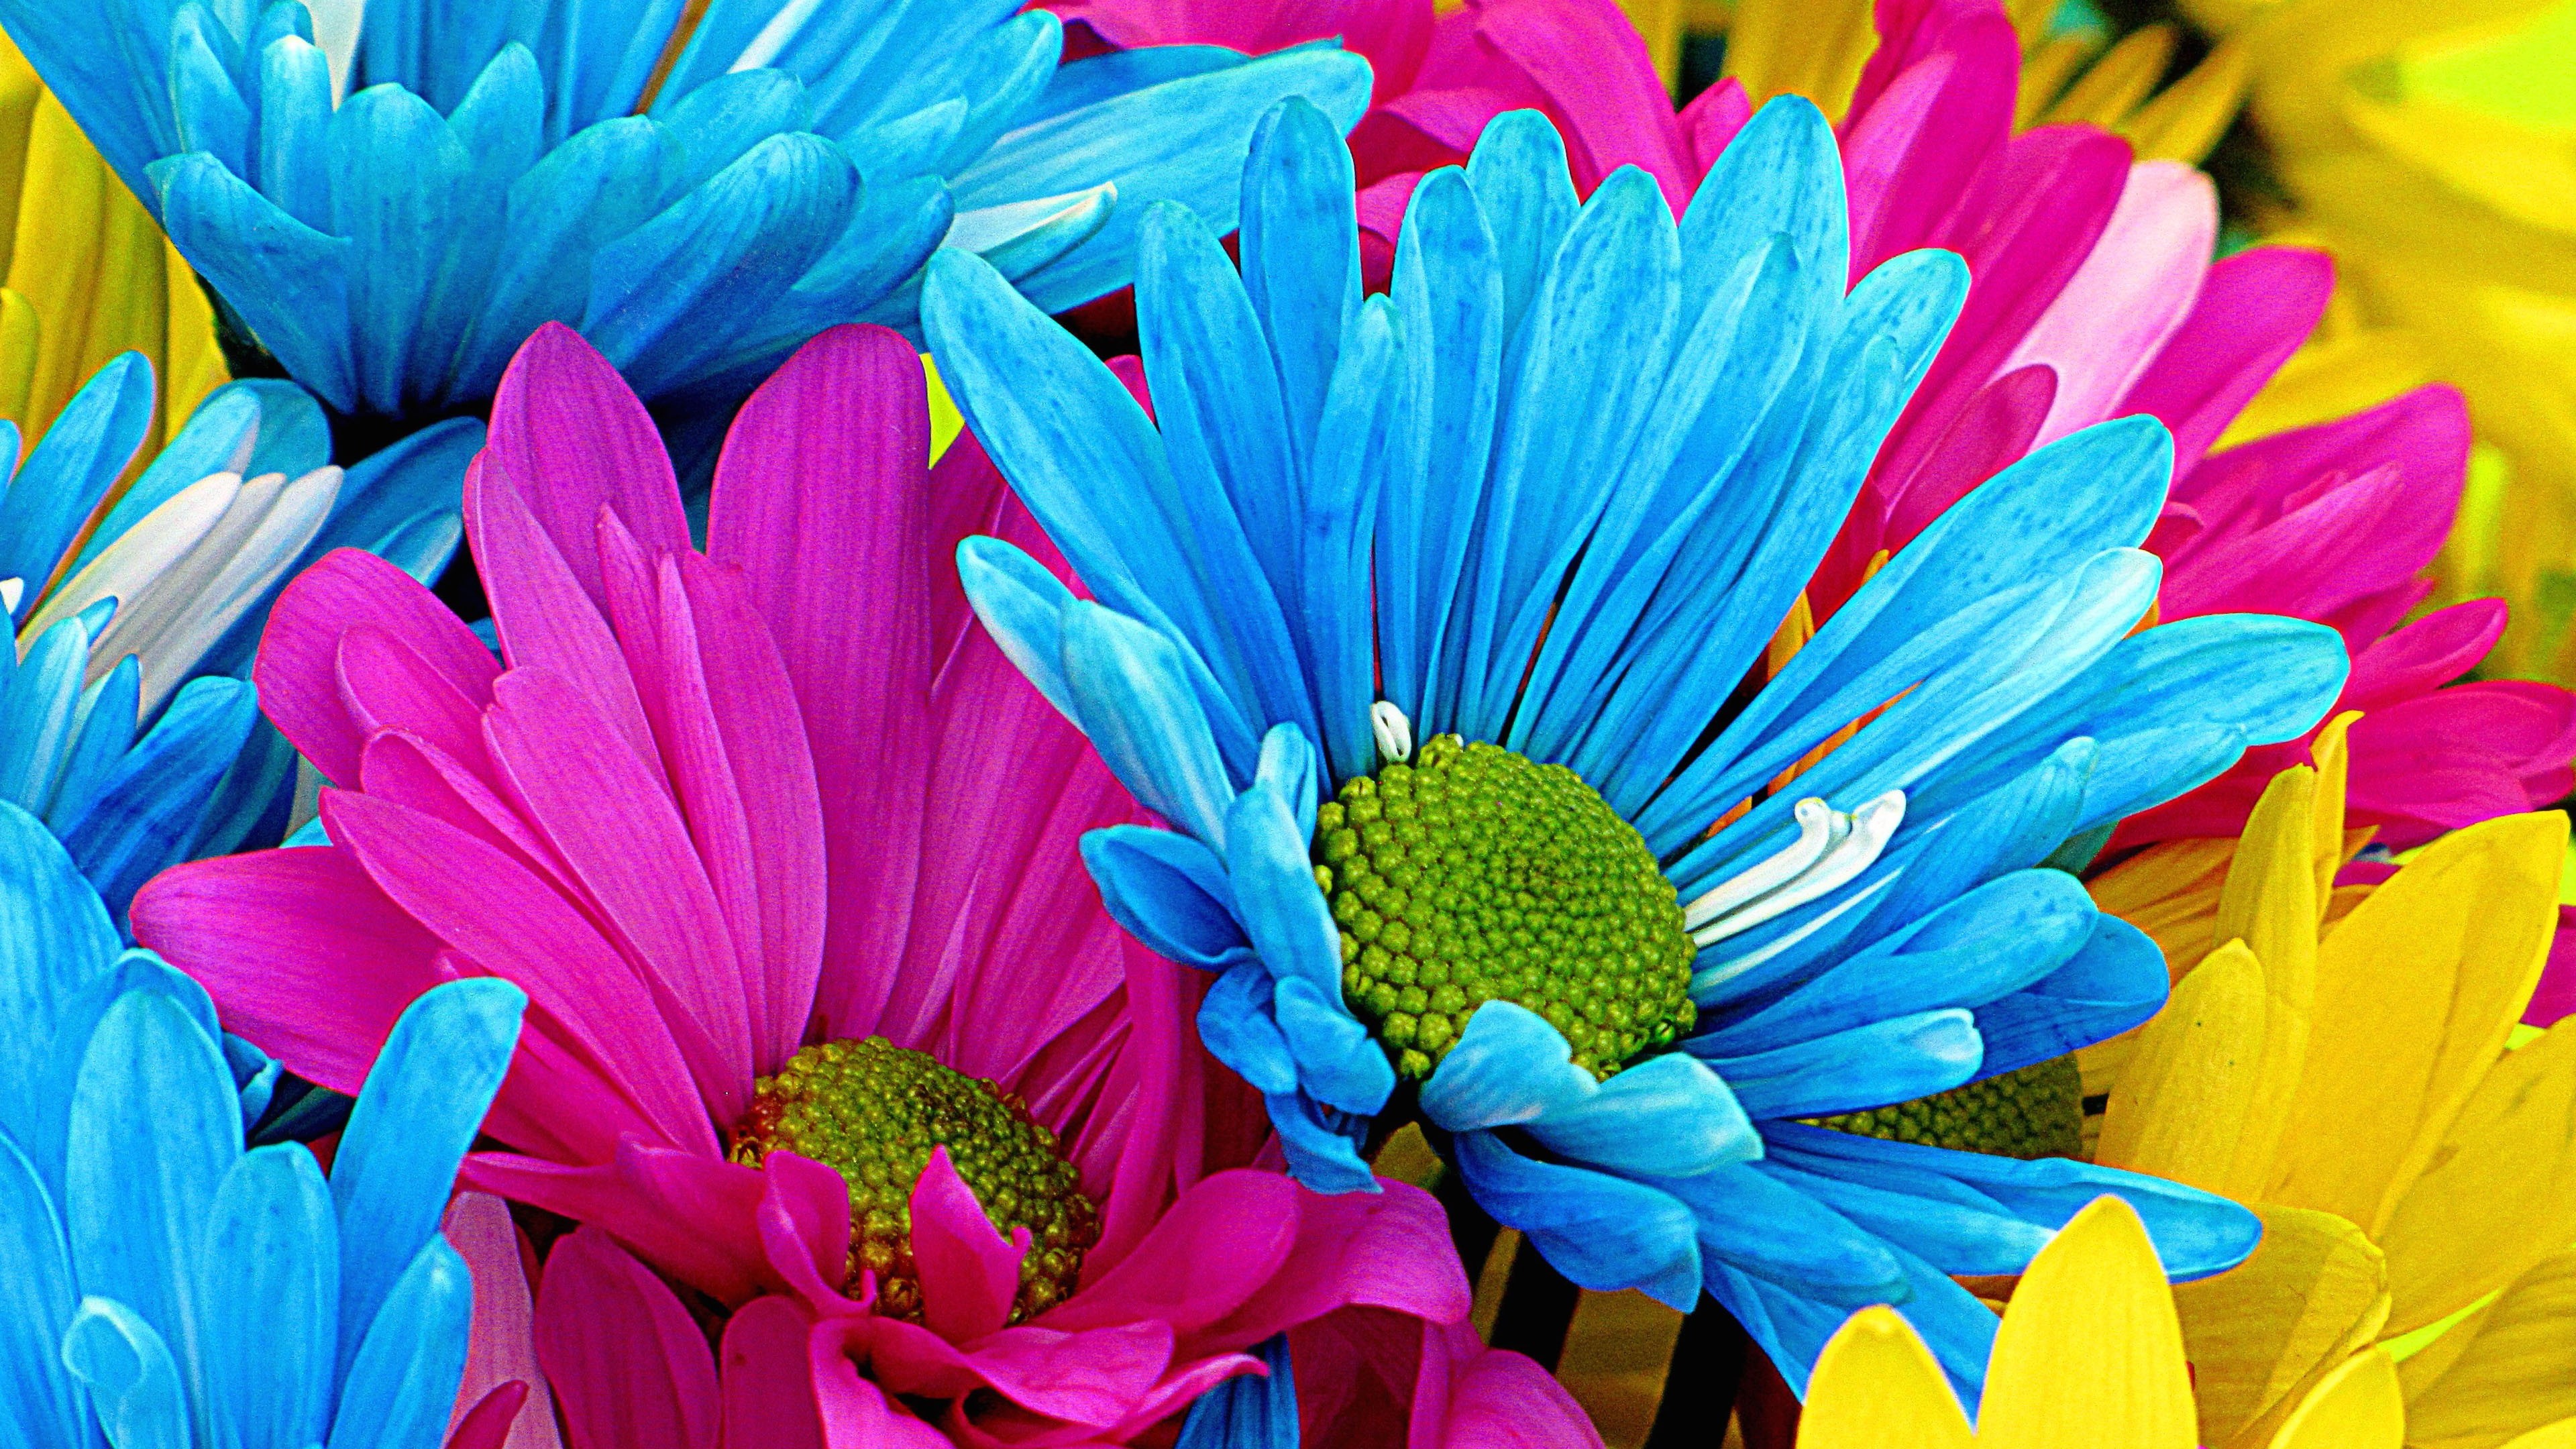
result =
M196 1297L198 1240L240 1155L242 1109L214 1036L165 995L108 1006L80 1062L64 1160L80 1292L196 1343L214 1310Z

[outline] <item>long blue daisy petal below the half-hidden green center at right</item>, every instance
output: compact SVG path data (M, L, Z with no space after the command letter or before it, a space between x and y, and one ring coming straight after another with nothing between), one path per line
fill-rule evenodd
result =
M2174 1281L2223 1274L2241 1263L2262 1238L2262 1220L2244 1207L2143 1173L2069 1163L2066 1158L2022 1163L1986 1152L1883 1142L1878 1137L1855 1137L1793 1122L1770 1122L1762 1127L1762 1134L1770 1142L1767 1160L1775 1168L1917 1199L1978 1207L2050 1232L2063 1227L2084 1204L2102 1194L2115 1194L2138 1209L2148 1238L2156 1243L2156 1256ZM1904 1243L1904 1220L1891 1217L1888 1222L1891 1238ZM1935 1266L1945 1271L1984 1271L1950 1269L1947 1263Z

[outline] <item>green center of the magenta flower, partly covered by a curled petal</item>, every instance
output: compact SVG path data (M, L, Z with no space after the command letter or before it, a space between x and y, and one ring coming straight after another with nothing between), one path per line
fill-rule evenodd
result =
M850 1183L848 1289L876 1274L876 1307L920 1320L922 1281L912 1269L912 1186L930 1150L948 1147L958 1178L1007 1238L1028 1227L1020 1294L1010 1320L1046 1312L1074 1292L1082 1253L1100 1240L1100 1209L1082 1196L1064 1147L994 1083L943 1067L868 1036L806 1047L760 1078L752 1111L732 1132L732 1158L757 1168L770 1152L829 1165Z

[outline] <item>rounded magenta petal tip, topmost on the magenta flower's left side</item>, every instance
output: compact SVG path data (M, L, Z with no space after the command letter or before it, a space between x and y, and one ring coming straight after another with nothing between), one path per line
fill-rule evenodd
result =
M526 492L533 518L598 606L605 598L592 521L603 505L647 549L688 547L662 433L618 369L562 322L538 327L510 358L492 397L484 454Z

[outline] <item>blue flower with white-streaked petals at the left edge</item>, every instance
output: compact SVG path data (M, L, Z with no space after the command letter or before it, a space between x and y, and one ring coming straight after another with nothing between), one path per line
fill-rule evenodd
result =
M0 423L0 799L52 828L116 920L155 871L276 843L296 755L258 717L268 606L337 547L435 580L464 536L482 423L330 467L322 407L232 382L116 492L152 425L152 364L98 371L18 464Z

